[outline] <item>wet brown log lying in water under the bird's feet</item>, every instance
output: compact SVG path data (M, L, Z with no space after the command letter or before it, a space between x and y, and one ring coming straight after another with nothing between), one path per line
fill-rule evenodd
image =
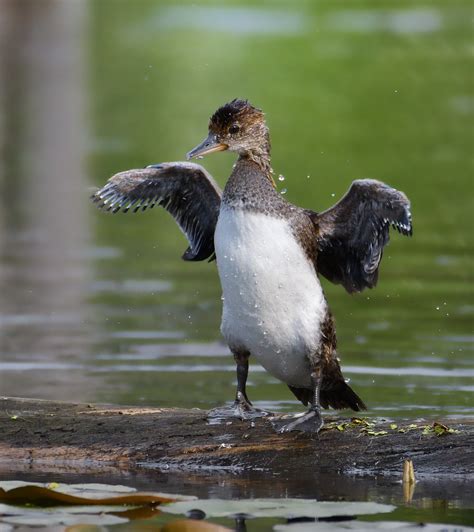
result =
M463 481L474 462L474 422L367 425L326 416L318 435L277 434L269 419L210 425L203 410L116 407L35 399L0 400L0 470L147 468L200 474L312 476L338 472L400 478L413 460L418 478ZM443 425L441 425L442 427Z

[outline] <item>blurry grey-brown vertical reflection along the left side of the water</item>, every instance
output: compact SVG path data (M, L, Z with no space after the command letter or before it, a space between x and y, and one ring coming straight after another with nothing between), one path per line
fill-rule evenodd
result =
M54 361L80 355L90 344L90 272L83 258L90 240L83 194L85 11L84 3L2 2L2 360ZM2 372L2 393L44 396L53 385L74 397L94 388L83 373L71 379L61 372L36 386L31 364Z

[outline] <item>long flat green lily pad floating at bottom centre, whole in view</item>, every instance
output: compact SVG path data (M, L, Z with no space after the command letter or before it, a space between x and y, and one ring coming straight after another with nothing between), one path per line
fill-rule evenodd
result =
M318 502L312 499L241 499L238 501L205 499L180 501L161 507L165 513L186 514L199 508L207 517L333 517L391 512L395 506L374 502Z

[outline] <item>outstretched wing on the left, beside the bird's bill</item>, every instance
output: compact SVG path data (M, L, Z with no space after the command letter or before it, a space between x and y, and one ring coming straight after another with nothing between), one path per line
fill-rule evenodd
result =
M184 260L214 256L214 231L221 190L199 164L162 163L112 176L92 200L100 209L138 212L155 205L164 207L176 220L189 242Z

